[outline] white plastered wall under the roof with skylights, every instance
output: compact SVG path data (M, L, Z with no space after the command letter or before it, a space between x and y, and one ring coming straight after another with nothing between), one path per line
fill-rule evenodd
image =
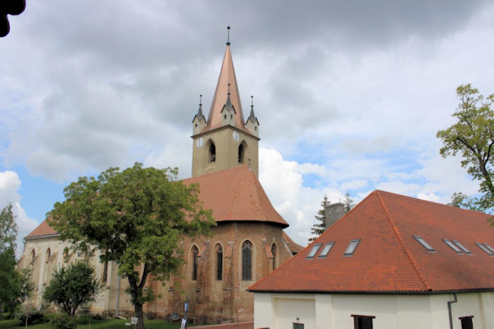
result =
M298 317L304 329L353 328L351 315L374 316L379 329L448 329L448 301L453 294L302 294L254 293L254 328L292 328ZM494 292L458 293L452 304L453 328L459 317L473 316L474 328L494 328Z

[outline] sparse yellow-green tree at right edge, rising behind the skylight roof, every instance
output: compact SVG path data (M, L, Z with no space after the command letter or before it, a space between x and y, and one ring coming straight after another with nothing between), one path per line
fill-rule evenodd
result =
M453 113L456 122L447 129L439 130L436 137L443 147L439 151L443 158L462 158L461 166L473 179L480 183L479 198L462 198L453 195L453 203L474 210L488 211L494 206L493 146L494 146L494 94L484 97L477 88L463 84L456 88L459 105ZM463 195L464 196L464 195ZM461 201L461 203L457 203Z

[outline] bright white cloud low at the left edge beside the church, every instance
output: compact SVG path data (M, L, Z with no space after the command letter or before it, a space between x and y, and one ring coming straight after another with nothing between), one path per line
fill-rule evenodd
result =
M39 223L29 218L20 205L21 196L18 193L21 187L19 175L15 171L0 172L0 208L12 204L12 212L16 216L18 233L17 233L17 255L23 251L22 239L33 231Z

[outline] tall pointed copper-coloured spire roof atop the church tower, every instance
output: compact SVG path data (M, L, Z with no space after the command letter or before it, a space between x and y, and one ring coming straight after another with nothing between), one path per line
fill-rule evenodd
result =
M218 83L216 84L216 90L214 91L207 123L201 133L221 127L221 110L223 110L223 107L228 100L228 84L230 84L230 101L237 113L235 116L235 126L238 129L251 134L244 123L244 114L240 102L237 77L235 76L232 53L230 52L230 45L228 44L226 46L225 56L223 57L223 64L221 65L221 71L219 73Z

